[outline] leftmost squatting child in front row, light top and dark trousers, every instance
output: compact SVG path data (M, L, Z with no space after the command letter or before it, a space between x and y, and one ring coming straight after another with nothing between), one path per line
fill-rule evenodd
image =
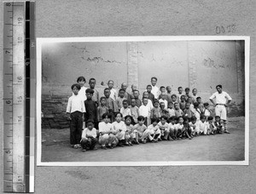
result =
M96 134L96 128L94 128L94 121L89 119L87 120L87 128L84 128L82 132L82 151L88 151L88 150L96 150L96 143L97 143L97 134Z

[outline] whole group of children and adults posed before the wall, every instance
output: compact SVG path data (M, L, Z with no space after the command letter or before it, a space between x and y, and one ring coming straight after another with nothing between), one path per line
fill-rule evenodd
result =
M95 150L99 143L102 149L119 146L158 142L161 140L191 140L204 134L222 134L227 130L226 106L232 100L216 86L217 92L209 100L215 106L215 117L209 103L203 103L197 89L177 88L172 93L170 86L156 86L157 78L151 78L140 99L140 92L131 85L122 83L117 92L113 80L108 81L104 96L95 88L96 79L90 78L90 88L84 87L85 78L79 77L72 85L73 95L67 102L67 118L70 120L70 144L83 151Z

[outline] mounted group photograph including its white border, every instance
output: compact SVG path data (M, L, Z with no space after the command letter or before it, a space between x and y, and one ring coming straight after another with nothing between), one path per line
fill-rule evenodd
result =
M248 165L248 37L37 38L38 166Z

